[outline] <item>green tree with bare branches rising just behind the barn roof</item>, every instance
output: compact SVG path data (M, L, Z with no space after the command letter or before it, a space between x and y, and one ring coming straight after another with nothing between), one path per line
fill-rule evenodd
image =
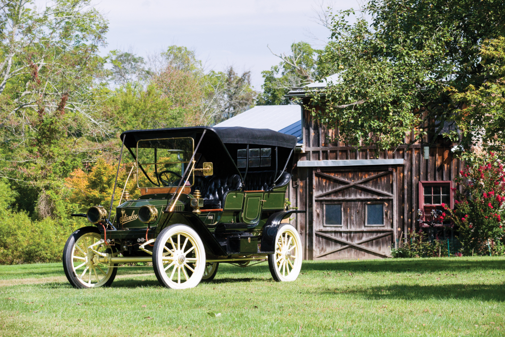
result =
M272 52L272 50L270 50ZM284 95L293 87L303 87L314 82L317 75L318 56L322 51L315 50L307 42L291 44L291 55L274 54L281 62L270 70L262 72L262 85L259 105L285 105L289 100ZM321 67L322 68L322 67ZM324 75L331 70L326 69Z

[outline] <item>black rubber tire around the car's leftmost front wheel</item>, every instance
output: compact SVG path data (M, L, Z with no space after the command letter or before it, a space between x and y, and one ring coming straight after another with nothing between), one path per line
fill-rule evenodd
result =
M77 240L81 236L89 233L100 234L100 231L98 230L98 228L92 226L79 228L75 232L70 234L69 238L67 239L67 242L65 243L65 247L63 248L63 270L65 271L65 275L67 276L67 279L70 282L70 284L72 284L74 288L78 289L90 288L90 287L80 282L77 275L74 272L74 268L72 267L73 264L72 249ZM117 264L115 264L115 266L117 266ZM117 272L118 268L113 268L111 276L109 277L107 282L104 283L102 286L111 286L112 282L114 281L114 278L116 277Z

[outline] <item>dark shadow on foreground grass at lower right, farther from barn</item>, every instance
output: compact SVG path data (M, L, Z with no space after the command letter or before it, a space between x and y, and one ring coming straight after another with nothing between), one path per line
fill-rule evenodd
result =
M477 300L505 301L502 284L443 284L443 285L384 285L365 287L360 290L335 288L328 294L348 294L364 297L367 300Z

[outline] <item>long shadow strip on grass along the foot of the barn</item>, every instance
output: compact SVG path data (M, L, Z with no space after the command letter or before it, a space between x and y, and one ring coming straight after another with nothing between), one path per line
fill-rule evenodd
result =
M505 270L505 260L466 260L465 258L450 259L377 259L363 261L304 261L302 271L352 271L352 272L464 272L480 270Z

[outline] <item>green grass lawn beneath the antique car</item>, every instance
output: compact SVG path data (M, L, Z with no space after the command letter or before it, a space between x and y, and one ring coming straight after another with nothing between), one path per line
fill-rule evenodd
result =
M174 291L136 267L76 290L59 263L0 266L0 336L503 335L504 277L494 257L305 261L295 282L221 265Z

